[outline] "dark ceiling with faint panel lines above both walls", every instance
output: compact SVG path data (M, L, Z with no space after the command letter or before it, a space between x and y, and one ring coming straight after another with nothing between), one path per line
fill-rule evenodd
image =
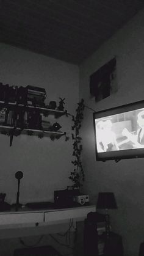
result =
M143 7L143 0L0 0L0 42L81 64Z

